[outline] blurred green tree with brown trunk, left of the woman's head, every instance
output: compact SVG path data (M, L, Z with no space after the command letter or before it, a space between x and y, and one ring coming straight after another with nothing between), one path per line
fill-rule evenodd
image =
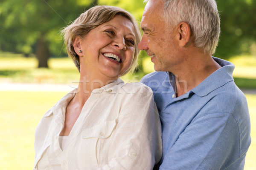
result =
M0 48L24 54L35 52L38 67L48 67L50 53L61 53L59 30L94 4L97 0L2 0Z

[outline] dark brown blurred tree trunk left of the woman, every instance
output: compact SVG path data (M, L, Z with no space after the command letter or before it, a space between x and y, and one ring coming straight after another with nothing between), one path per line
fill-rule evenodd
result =
M44 34L41 34L35 52L36 58L38 59L38 68L45 67L48 68L48 58L49 58L49 47L48 42L44 38Z

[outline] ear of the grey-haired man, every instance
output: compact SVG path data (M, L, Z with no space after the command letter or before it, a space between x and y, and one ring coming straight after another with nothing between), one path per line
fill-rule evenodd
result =
M177 25L177 31L178 31L178 43L179 46L186 46L186 44L189 42L190 35L191 35L191 29L188 23L181 22Z

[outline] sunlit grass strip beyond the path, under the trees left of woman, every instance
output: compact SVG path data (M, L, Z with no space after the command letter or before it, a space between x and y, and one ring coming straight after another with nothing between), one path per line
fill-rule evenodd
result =
M6 53L0 53L0 82L66 84L79 80L79 72L70 58L50 58L49 69L38 69L37 64L36 58L6 57Z

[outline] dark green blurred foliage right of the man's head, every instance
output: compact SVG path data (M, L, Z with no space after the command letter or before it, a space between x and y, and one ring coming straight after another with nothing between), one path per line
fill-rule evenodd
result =
M216 57L252 53L256 42L256 0L216 0L221 37Z

